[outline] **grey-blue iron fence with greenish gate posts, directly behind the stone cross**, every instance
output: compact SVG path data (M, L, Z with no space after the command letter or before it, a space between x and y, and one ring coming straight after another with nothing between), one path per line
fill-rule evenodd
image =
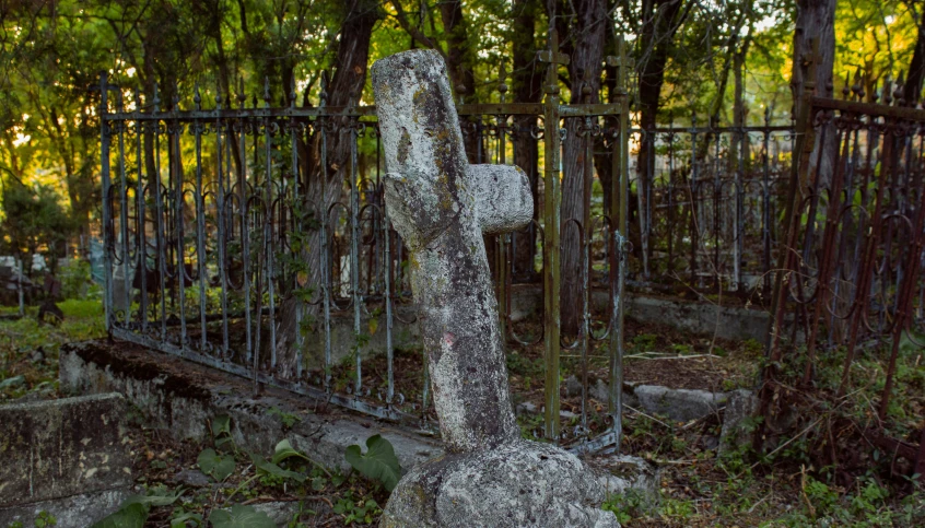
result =
M537 183L537 219L492 242L500 321L508 349L541 348L540 434L587 450L619 445L621 436L628 97L621 89L611 94L616 103L561 104L558 69L569 57L555 43L553 33L538 57L548 70L542 103L506 103L501 79L496 102L457 112L477 162L510 163L518 145L536 145L536 163L523 168ZM608 61L625 80L622 49ZM143 98L106 73L99 89L110 335L253 379L255 390L267 384L433 430L425 354L394 345L395 326L414 316L407 253L383 202L375 107L330 106L324 85L301 105L292 86L282 106L271 105L281 94L271 96L269 83L250 98L243 83L235 95L184 86L187 103L180 86L165 103L156 87ZM573 120L579 132L566 137ZM588 189L595 178L590 164L581 175L560 173L565 141L589 159L595 145L607 149L617 183L606 199L614 213L561 223L561 178L584 178ZM561 225L572 223L581 234L584 306L577 336L563 337L558 248ZM538 331L512 317L518 237L536 240L532 271L545 300ZM609 292L602 313L589 307L595 288ZM349 321L347 339L339 320ZM373 335L385 339L379 356L368 355ZM585 380L581 415L567 424L560 423L563 349ZM595 361L605 365L609 391L590 404Z

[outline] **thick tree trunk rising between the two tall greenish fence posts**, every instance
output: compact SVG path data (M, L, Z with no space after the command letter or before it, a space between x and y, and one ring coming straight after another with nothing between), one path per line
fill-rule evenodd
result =
M571 103L598 103L600 101L600 73L604 61L606 30L609 25L606 0L577 0L574 22L569 34L572 60L569 64ZM554 124L546 124L547 129ZM562 155L562 330L576 333L583 308L582 293L583 251L578 230L570 219L588 228L590 188L586 188L586 171L593 171L594 160L587 157L584 118L565 120L565 141ZM547 133L554 131L547 130ZM593 139L592 139L593 141Z

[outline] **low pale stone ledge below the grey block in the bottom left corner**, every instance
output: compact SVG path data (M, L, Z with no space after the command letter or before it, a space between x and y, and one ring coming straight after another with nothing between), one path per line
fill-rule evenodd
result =
M81 493L63 498L54 498L21 506L0 507L0 526L22 523L36 526L35 519L42 512L55 517L58 528L82 528L92 526L119 508L131 493L128 489Z

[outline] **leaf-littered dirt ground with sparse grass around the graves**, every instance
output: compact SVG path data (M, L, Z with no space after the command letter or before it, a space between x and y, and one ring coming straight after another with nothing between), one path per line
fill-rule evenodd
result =
M0 401L59 397L58 345L103 337L98 302L73 302L62 307L66 320L59 326L39 326L32 317L0 321L0 384L4 384L0 386ZM607 350L607 342L602 341L588 351L589 379L606 379ZM667 327L627 322L628 383L705 390L749 387L761 355L760 347L753 342L714 341ZM396 352L396 383L409 406L415 398L420 401L421 357L420 350ZM563 351L564 410L574 412L581 407L581 398L569 395L566 380L582 375L583 365L578 354ZM349 365L339 368L335 378L349 380ZM515 402L541 403L541 345L512 344L508 371ZM384 359L364 362L364 376L368 376L364 382L371 386L380 386L385 372ZM917 375L914 369L911 372L910 375ZM596 412L602 411L601 402L590 403ZM813 416L826 418L832 412L822 407L813 409L818 413ZM859 467L866 471L845 472L820 465L812 453L813 443L824 437L821 429L792 435L772 456L759 456L749 445L717 456L718 416L679 424L628 411L623 453L661 468L658 497L651 503L632 493L614 495L604 507L614 512L628 527L925 526L922 484L899 474L889 454L880 453L877 458L877 451L853 445L856 437L844 433L847 430L840 426L834 413L831 416L821 423L830 425L829 431L838 436L835 441L842 449L859 454ZM537 420L538 416L522 416L525 435L530 436L530 431L539 425ZM202 445L179 443L168 431L149 427L141 415L130 415L128 422L138 492L149 496L178 494L169 503L162 501L166 505L151 507L144 526L206 526L204 519L213 511L232 504L260 503L274 507L294 504L289 524L292 527L374 525L388 498L382 484L356 472L340 474L302 458L281 462L282 469L305 477L297 482L258 471L247 454L221 437ZM226 478L216 481L201 473L200 456L209 448L234 460L234 470Z

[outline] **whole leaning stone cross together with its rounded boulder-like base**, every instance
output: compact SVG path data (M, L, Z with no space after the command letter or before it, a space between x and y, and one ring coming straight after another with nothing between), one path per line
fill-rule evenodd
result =
M389 174L389 216L410 250L411 285L448 454L413 468L385 527L619 526L572 454L520 439L482 235L529 222L523 171L470 166L446 64L433 50L378 60L373 90Z

